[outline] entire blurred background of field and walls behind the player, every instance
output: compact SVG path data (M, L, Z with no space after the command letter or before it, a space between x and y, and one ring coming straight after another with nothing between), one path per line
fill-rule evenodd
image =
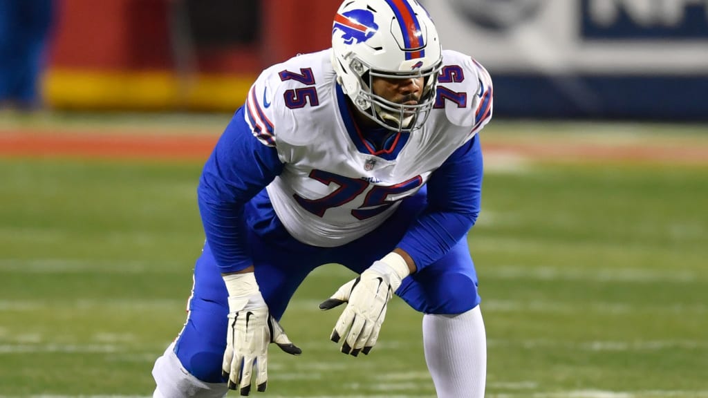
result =
M708 397L708 1L421 0L495 84L469 233L489 397ZM0 0L0 398L149 397L204 239L203 162L337 0ZM263 397L432 397L421 314L367 358L316 270Z

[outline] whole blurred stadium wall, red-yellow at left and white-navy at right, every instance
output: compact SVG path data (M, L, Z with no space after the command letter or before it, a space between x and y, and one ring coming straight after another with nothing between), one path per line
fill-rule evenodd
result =
M234 110L263 67L329 47L338 6L262 0L256 40L209 47L185 1L64 0L50 105ZM708 120L708 0L420 1L493 75L496 115Z

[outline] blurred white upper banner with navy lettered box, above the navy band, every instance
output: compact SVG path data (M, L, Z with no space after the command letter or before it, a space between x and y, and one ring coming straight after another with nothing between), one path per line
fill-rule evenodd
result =
M420 0L495 73L708 74L708 0Z

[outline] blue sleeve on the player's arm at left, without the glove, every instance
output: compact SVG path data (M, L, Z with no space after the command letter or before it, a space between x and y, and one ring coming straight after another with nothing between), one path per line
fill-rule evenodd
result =
M246 244L244 205L282 171L274 147L261 143L236 111L207 160L198 187L198 204L207 241L222 273L251 265Z

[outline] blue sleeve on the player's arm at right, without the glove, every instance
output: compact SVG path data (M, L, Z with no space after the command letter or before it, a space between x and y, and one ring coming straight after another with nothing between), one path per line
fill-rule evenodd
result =
M399 243L418 271L467 236L479 215L483 171L479 135L475 135L430 176L428 207Z

